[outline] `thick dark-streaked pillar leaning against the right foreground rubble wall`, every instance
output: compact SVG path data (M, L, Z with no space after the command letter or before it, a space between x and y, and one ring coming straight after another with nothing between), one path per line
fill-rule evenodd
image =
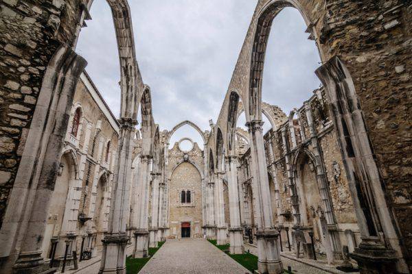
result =
M333 56L317 69L330 104L343 165L354 201L361 243L350 253L361 273L408 273L400 234L387 204L376 155L350 71Z

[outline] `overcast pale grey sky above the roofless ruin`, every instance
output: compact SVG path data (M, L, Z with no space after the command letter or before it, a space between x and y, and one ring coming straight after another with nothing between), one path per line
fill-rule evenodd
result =
M151 88L153 114L161 129L190 120L205 130L209 119L216 122L256 3L129 1L137 62L144 83ZM106 1L95 0L91 16L88 27L82 29L77 51L86 58L86 70L118 116L119 59ZM286 8L273 21L268 42L263 100L279 105L286 114L319 86L314 75L319 55L305 29L299 12ZM183 127L171 143L184 136L201 141L190 127Z

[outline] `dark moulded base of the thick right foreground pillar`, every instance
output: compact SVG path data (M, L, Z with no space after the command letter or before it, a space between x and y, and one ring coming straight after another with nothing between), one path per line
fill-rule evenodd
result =
M358 262L361 274L394 274L396 271L396 251L387 249L378 238L362 238L350 257Z

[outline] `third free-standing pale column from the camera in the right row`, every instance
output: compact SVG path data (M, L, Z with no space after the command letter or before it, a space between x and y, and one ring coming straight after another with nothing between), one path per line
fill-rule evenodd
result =
M218 172L215 174L216 187L214 192L214 205L216 217L216 241L218 245L226 245L225 227L225 199L223 198L223 178L225 173Z

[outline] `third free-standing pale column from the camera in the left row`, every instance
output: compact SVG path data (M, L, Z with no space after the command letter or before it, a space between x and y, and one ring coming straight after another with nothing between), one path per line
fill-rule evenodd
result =
M152 173L152 220L149 228L149 247L157 247L157 232L159 230L159 176Z

